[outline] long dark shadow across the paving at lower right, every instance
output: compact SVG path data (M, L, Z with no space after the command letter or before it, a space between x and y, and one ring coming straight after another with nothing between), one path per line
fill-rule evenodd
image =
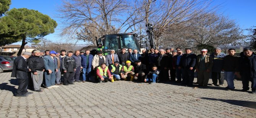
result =
M253 101L215 99L215 98L209 98L209 97L201 97L201 99L215 100L215 101L218 100L218 101L221 101L221 102L227 102L228 104L238 105L238 106L242 106L242 107L256 108L256 102L253 102Z

